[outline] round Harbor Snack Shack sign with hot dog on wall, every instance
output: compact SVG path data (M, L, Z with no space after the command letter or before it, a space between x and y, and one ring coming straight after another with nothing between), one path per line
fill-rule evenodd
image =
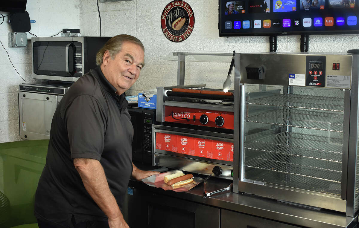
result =
M172 1L164 8L161 15L163 34L172 42L187 39L195 26L195 15L185 1Z

